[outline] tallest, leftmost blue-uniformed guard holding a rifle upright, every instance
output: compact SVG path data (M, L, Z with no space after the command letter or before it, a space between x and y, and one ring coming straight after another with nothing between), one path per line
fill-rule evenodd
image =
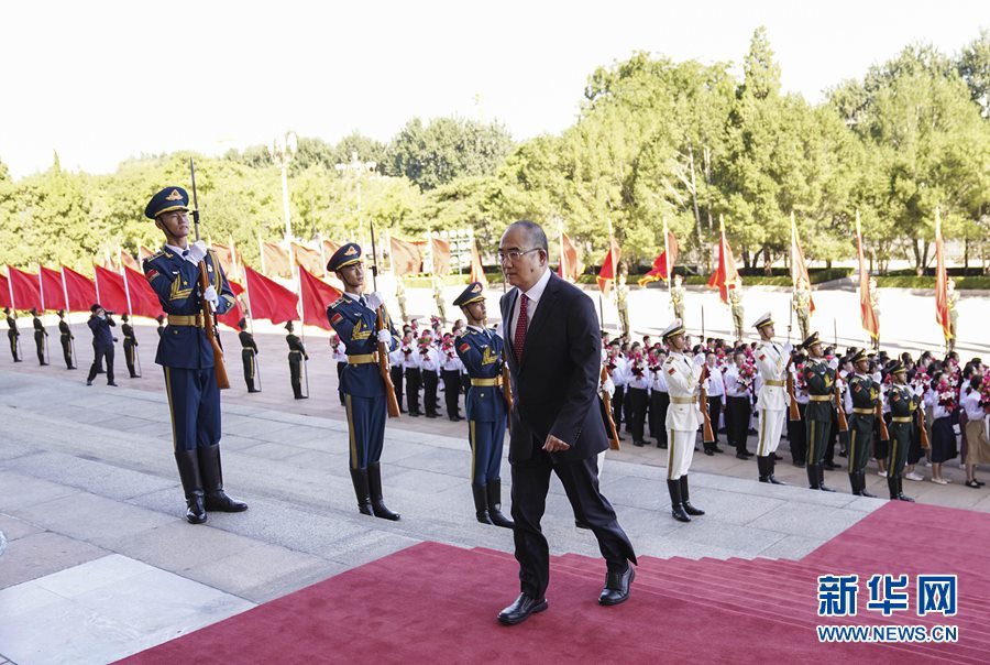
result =
M204 329L202 301L224 314L234 305L220 261L206 243L188 242L189 196L166 187L144 215L165 233L165 246L144 260L144 274L168 315L155 362L165 368L172 412L175 461L186 494L186 520L207 521L207 511L241 512L248 504L223 491L220 466L220 390L213 372L213 348ZM199 288L199 262L206 261L210 285Z

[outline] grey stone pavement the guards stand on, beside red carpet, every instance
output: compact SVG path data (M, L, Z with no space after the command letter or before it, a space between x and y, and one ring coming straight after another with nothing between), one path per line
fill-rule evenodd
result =
M463 422L391 422L386 500L403 521L358 514L326 340L310 347L314 396L297 402L276 335L258 335L264 392L246 394L234 357L234 388L223 393L227 486L251 510L187 524L148 351L155 332L139 326L139 336L144 378L128 379L118 355L121 388L101 377L87 388L85 369L40 368L30 356L0 364L0 665L112 661L425 539L512 550L509 531L473 519ZM84 366L87 350L79 345ZM664 451L626 446L602 473L637 550L653 556L796 558L883 504L846 493L840 471L831 484L842 491L827 494L803 489L803 470L787 462L779 475L795 486L768 487L755 481L755 462L698 454L692 498L710 514L681 524L668 513L664 465ZM507 464L503 476L508 486ZM871 476L876 490L882 483ZM905 489L990 510L990 492L959 483ZM597 553L556 480L544 531L556 554ZM479 600L493 615L516 580L505 587L505 598Z

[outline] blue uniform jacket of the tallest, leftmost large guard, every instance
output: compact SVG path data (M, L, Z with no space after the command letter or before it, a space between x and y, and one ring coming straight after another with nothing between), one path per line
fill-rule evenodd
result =
M207 254L206 264L210 284L220 296L217 314L227 314L234 305L234 294L227 275L213 252ZM201 312L197 264L166 248L144 260L144 274L169 316L196 316ZM213 367L213 349L206 330L195 326L167 326L158 341L155 362L182 369Z

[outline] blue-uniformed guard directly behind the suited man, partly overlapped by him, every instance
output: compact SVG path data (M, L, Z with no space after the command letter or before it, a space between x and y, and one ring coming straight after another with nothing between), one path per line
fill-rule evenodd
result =
M505 340L485 328L485 293L481 282L469 284L454 301L454 306L460 307L468 318L468 327L454 347L471 377L465 410L475 516L482 524L512 528L513 521L502 514L502 446L506 419L502 351Z

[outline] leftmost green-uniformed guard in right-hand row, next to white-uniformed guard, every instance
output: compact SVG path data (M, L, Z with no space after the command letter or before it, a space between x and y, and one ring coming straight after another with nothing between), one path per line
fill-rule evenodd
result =
M807 432L807 482L811 489L834 492L825 487L825 448L835 416L835 370L828 367L822 352L822 340L812 332L802 345L807 351L804 363L804 381L807 384L809 403L805 407Z

